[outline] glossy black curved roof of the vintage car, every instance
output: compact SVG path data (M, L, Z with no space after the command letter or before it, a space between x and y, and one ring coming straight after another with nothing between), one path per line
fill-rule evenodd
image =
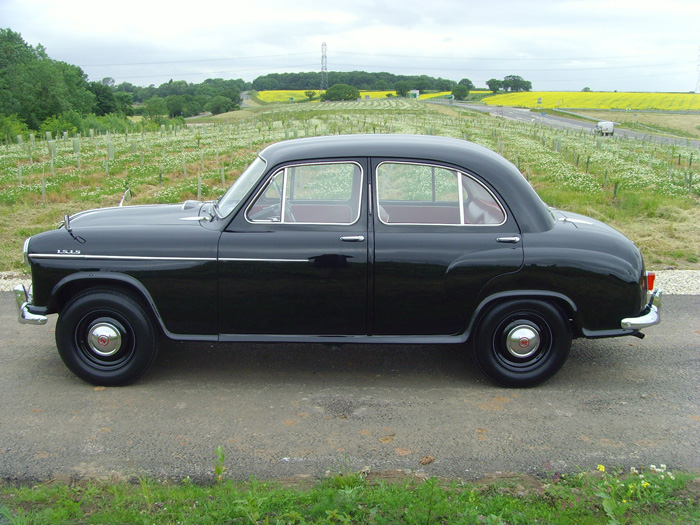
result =
M434 135L330 135L285 140L260 152L268 168L297 161L373 157L447 163L491 184L515 212L523 232L552 227L552 216L518 169L493 151L452 137Z

